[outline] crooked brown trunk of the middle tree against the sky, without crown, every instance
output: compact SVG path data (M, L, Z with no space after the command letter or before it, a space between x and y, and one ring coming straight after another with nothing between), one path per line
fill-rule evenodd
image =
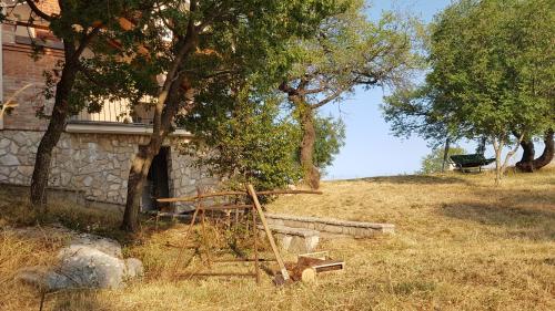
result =
M314 128L314 111L304 104L297 106L303 137L301 142L301 167L303 168L304 182L312 188L320 188L320 172L313 163L314 143L316 131Z

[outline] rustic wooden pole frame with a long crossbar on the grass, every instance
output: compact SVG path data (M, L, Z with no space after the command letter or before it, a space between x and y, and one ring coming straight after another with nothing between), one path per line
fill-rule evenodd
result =
M194 197L178 197L178 198L161 198L158 199L159 203L184 203L184 201L194 201L195 203L195 209L193 212L193 216L191 218L190 225L185 231L185 236L183 238L183 245L181 246L178 257L175 259L175 265L173 267L173 276L179 277L180 274L178 273L179 266L181 261L183 260L183 250L186 245L186 239L192 231L192 228L196 221L196 218L199 217L200 214L200 222L201 222L201 232L202 232L202 243L206 247L206 250L209 249L210 241L208 240L206 236L206 228L205 228L205 212L206 210L239 210L239 209L251 209L252 210L252 228L253 228L253 247L254 247L254 258L253 259L248 259L248 258L240 258L235 260L218 260L215 262L230 262L230 261L253 261L254 266L254 272L253 273L222 273L222 272L208 272L208 273L199 273L199 272L193 272L190 273L189 277L194 277L194 276L203 276L203 277L254 277L256 279L256 283L260 283L260 262L261 261L270 261L270 260L263 260L259 258L259 232L258 232L258 219L260 218L262 222L262 227L264 228L264 234L265 237L269 239L270 246L272 248L274 259L278 261L278 265L280 266L281 270L281 277L283 281L290 280L290 276L287 272L287 269L285 268L285 263L280 255L280 251L278 250L278 246L275 243L275 239L273 238L272 231L270 230L270 227L268 225L266 218L264 216L264 211L262 210L262 206L259 200L259 196L261 195L284 195L284 194L315 194L315 195L321 195L322 191L313 191L313 190L270 190L270 191L259 191L256 193L254 190L254 187L252 185L246 185L245 191L221 191L221 193L209 193L204 194L201 191L200 188L196 188L196 196ZM215 198L215 197L231 197L231 196L246 196L250 197L252 200L252 204L231 204L231 205L212 205L212 206L204 206L203 205L203 199L206 198ZM258 217L256 217L258 216ZM208 259L208 266L209 269L211 269L212 266L212 260L210 258L210 251L206 251L206 259Z

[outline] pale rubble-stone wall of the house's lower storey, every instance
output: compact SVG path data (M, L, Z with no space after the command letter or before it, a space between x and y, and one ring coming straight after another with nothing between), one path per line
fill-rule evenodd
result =
M42 132L0 131L0 183L29 185ZM63 133L52 155L49 186L82 191L87 199L124 204L131 160L147 135ZM191 196L196 185L213 186L169 138L170 196Z

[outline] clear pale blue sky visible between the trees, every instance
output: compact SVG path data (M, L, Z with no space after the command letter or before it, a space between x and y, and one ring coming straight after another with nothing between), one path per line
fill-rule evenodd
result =
M450 3L451 0L375 0L367 14L377 19L383 10L401 10L427 23ZM325 169L324 179L413 174L421 168L422 157L431 152L426 142L416 136L402 139L391 134L380 110L383 95L382 89L356 89L345 101L322 107L321 115L341 117L346 126L345 146ZM460 145L472 153L476 144ZM492 151L486 152L488 155Z

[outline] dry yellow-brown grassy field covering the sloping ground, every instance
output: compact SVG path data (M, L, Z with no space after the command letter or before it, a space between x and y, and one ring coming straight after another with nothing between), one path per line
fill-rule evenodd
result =
M448 174L375 177L323 183L324 195L287 196L274 212L391 222L393 236L340 238L321 249L346 261L346 270L317 284L275 288L270 278L172 280L182 225L133 237L117 231L118 217L52 201L41 224L60 221L118 238L141 258L142 280L122 290L47 296L46 310L555 310L555 169L493 175ZM38 310L37 292L12 281L17 269L51 265L64 237L22 238L13 226L31 225L24 193L0 189L0 310ZM287 259L292 259L289 255ZM200 265L200 262L198 262Z

